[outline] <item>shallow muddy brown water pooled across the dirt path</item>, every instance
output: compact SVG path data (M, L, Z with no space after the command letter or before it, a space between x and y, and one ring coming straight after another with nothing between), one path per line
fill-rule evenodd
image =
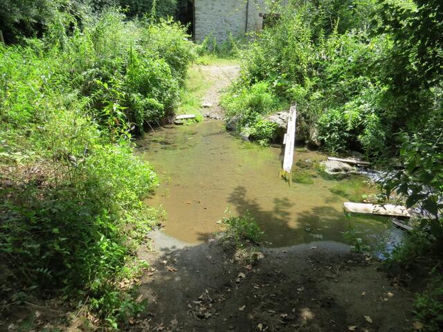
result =
M352 190L358 184L361 194L376 192L365 183L369 181L336 181L311 172L311 183L289 186L278 176L282 149L243 142L227 133L223 122L156 129L137 145L138 154L154 166L161 181L145 203L165 210L163 232L183 243L203 243L223 230L221 217L246 212L264 231L267 247L322 240L343 243L350 223L373 246L392 237L388 219L349 219L343 211L343 202L348 201L343 187ZM326 156L296 149L294 164L307 159L315 164ZM295 167L298 171L302 172Z

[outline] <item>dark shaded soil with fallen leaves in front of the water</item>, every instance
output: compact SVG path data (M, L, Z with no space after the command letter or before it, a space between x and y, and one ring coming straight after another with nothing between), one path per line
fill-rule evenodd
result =
M262 248L255 266L219 241L154 244L157 253L141 252L152 262L140 287L149 305L131 331L397 332L413 324L413 295L343 244Z

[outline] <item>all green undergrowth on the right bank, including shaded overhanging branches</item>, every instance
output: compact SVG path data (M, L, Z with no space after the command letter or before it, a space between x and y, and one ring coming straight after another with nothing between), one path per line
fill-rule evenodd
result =
M266 117L296 103L298 140L336 154L361 151L390 167L380 182L386 197L395 192L421 214L418 235L389 261L422 260L442 273L442 1L269 6L278 19L241 53L241 75L224 96L228 126L269 142L276 126ZM417 299L417 317L439 331L441 280L430 285Z

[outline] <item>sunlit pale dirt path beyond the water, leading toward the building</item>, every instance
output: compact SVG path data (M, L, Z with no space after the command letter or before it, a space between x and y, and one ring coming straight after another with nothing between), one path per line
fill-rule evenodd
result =
M201 66L201 71L211 82L211 86L203 98L204 104L212 104L212 107L204 109L207 118L224 118L224 109L219 105L220 95L229 86L230 82L233 82L239 75L239 70L240 68L237 65L214 64Z

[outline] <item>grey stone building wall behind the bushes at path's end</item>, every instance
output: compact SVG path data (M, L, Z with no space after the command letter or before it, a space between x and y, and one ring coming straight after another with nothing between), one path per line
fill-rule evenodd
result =
M224 42L229 33L242 37L246 32L247 0L195 0L195 40L203 41L214 35L217 42ZM247 31L262 28L260 13L266 12L264 0L249 0Z

